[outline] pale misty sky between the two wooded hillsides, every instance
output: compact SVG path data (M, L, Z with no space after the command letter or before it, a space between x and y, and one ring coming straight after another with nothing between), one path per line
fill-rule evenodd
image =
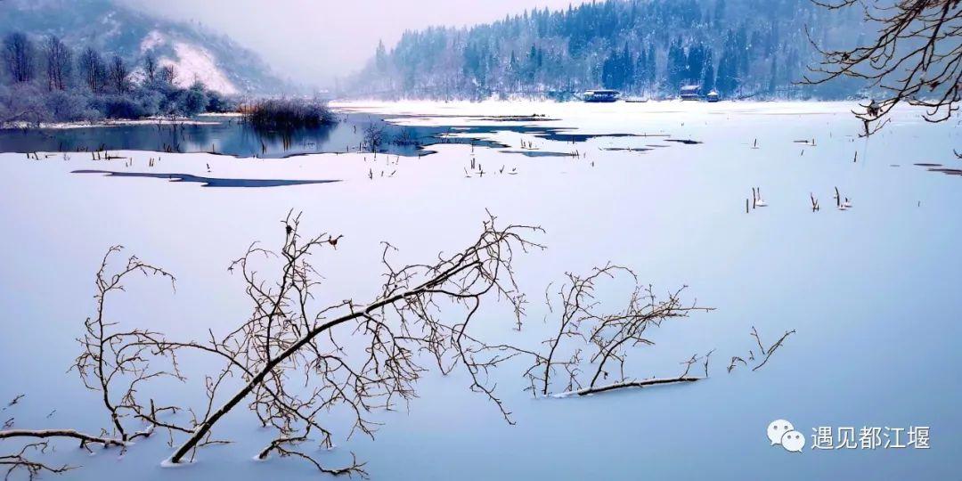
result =
M261 54L282 76L326 85L360 68L377 41L390 49L405 30L461 26L578 0L123 0L177 20L198 21Z

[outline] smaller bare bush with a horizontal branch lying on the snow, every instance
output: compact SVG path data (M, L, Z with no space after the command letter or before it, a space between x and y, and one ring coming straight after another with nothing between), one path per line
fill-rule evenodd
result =
M555 293L560 304L557 308L557 334L544 341L546 353L536 355L535 364L525 372L531 383L530 391L547 395L552 385L558 385L563 387L564 394L586 395L621 388L694 382L701 379L689 375L697 362L705 363L705 376L708 375L707 356L693 356L683 363L685 369L680 375L668 378L636 380L625 372L630 348L654 344L646 337L649 328L660 326L665 319L685 317L693 311L712 310L697 307L694 303L682 304L680 294L684 288L670 291L665 299L659 299L650 286L637 283L638 278L630 269L611 264L596 267L586 276L572 273L567 276L567 282ZM616 313L598 312L596 283L604 278L624 276L635 283L625 307ZM552 314L555 313L551 295L547 292L545 299ZM561 384L555 381L559 368L564 369Z

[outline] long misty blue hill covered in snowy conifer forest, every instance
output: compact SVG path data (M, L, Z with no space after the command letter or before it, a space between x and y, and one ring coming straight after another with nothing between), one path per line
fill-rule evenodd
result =
M811 0L610 0L436 27L383 45L350 92L383 97L486 98L583 89L669 96L682 85L732 97L837 98L859 85L799 87L817 60L869 30L858 9Z

